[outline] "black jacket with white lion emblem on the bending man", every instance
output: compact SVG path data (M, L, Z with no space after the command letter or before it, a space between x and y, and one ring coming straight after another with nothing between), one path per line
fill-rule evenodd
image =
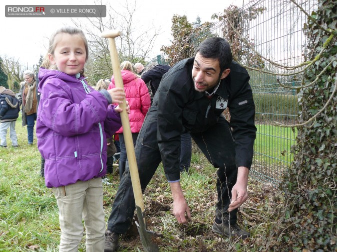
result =
M168 181L179 179L180 134L207 130L227 107L235 139L236 165L250 168L252 164L256 127L248 72L233 61L230 74L208 99L204 92L194 88L193 62L194 58L182 60L163 76L149 110L157 114L157 141Z

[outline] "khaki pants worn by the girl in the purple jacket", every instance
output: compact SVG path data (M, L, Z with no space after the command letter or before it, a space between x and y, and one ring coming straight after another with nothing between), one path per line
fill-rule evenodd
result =
M83 236L82 218L86 232L86 251L103 252L105 222L101 178L78 181L52 188L57 200L61 227L60 252L77 252Z

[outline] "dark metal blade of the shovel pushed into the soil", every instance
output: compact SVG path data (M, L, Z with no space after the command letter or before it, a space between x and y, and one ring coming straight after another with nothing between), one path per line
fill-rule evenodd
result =
M137 211L137 217L139 221L139 224L136 222L136 226L138 229L140 240L144 247L144 251L145 252L159 252L158 245L153 243L151 241L151 237L149 236L149 233L151 233L151 231L146 230L146 224L144 223L144 219L146 219L145 211L142 213L142 210L138 206L136 206L136 211Z

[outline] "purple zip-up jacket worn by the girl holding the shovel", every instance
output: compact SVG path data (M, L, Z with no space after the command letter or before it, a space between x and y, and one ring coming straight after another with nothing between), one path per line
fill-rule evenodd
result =
M115 106L100 92L57 70L40 68L36 120L37 147L45 159L48 188L102 177L106 138L121 126Z

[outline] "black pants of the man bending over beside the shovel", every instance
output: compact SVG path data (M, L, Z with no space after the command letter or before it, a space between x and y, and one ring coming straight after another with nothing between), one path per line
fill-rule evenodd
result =
M148 113L144 125L139 132L135 146L135 154L142 191L154 175L161 162L161 155L156 145L156 118ZM237 168L235 165L235 146L231 129L225 118L221 117L217 124L201 133L191 133L193 140L200 147L207 159L217 170L218 202L217 215L226 214L231 202L231 191L236 183ZM151 144L143 144L150 138ZM108 219L108 230L117 234L125 234L129 229L135 210L135 201L131 184L129 165L121 178L115 200ZM231 212L231 223L236 222L236 212Z

